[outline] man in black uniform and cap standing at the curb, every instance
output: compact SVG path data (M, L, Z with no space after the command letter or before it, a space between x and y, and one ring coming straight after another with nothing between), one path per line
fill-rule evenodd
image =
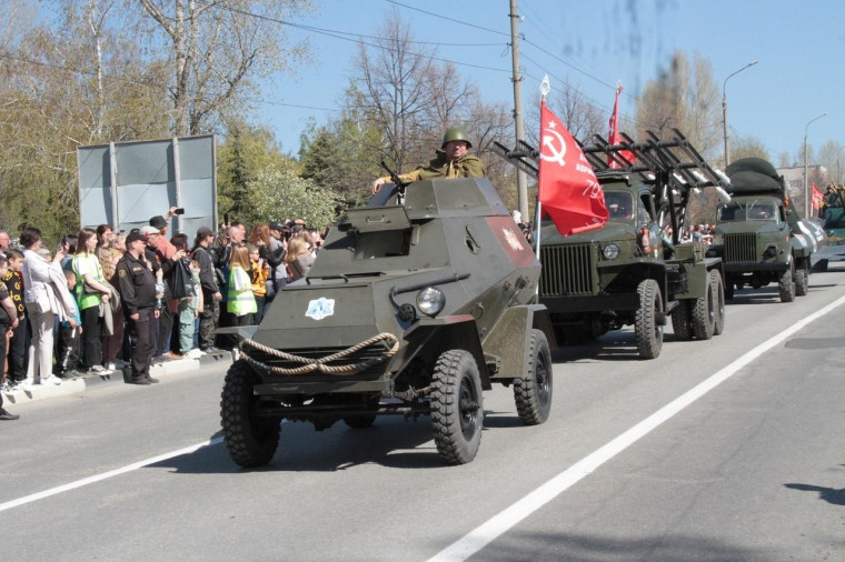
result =
M152 361L152 321L156 310L156 278L148 265L145 238L139 232L130 232L126 238L127 252L120 259L116 273L123 301L123 314L132 340L132 384L152 384L158 379L150 377Z

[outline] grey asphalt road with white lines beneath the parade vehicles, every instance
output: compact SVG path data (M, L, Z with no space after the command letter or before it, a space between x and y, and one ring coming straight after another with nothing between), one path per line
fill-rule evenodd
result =
M0 560L845 560L841 299L832 268L794 303L737 292L710 341L667 328L654 361L630 331L564 348L549 421L496 388L464 466L427 419L384 418L286 423L241 470L213 365L22 404L0 425Z

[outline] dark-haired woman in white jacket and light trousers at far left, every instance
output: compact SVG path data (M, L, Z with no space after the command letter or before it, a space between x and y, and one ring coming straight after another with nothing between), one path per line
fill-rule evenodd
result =
M32 381L34 384L61 384L58 377L52 374L53 353L53 317L67 314L68 298L72 298L62 283L57 287L56 268L44 260L38 250L41 248L41 231L27 227L20 235L23 247L23 304L27 307L29 322L32 327L32 347L34 348L32 363ZM56 270L56 271L52 271ZM63 291L62 291L63 289ZM71 304L72 307L72 304Z

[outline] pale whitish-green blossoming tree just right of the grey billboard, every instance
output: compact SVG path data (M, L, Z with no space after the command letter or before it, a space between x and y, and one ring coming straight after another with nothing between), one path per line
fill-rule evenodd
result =
M246 198L256 221L305 219L309 227L325 229L335 222L334 193L299 177L292 164L270 164L249 182Z

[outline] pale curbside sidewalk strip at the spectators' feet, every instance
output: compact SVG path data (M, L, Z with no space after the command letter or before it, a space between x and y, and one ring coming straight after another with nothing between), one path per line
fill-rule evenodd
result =
M183 373L187 371L195 371L202 367L219 365L221 362L231 363L231 352L222 351L221 353L215 353L213 355L205 355L199 359L177 359L173 361L165 361L163 363L153 363L150 368L150 377L156 379L167 380L172 374ZM20 390L13 394L3 392L3 400L7 404L26 404L34 402L37 400L47 400L57 397L67 397L70 394L78 394L86 392L92 388L100 387L107 383L128 383L130 380L130 369L116 370L111 374L98 375L87 374L84 377L78 377L71 380L62 380L59 385L46 384L34 387L32 390Z

